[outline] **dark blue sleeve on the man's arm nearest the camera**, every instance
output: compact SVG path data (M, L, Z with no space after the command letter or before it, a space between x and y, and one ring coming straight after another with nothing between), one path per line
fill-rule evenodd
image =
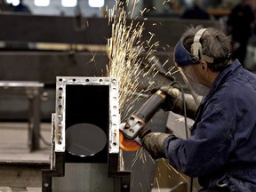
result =
M235 148L234 124L220 107L207 108L188 140L168 138L164 142L170 164L190 177L199 177L223 165Z

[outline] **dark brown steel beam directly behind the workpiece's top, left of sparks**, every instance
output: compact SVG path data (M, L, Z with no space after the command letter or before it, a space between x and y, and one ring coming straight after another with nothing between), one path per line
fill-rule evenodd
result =
M56 76L104 76L104 52L0 52L0 80L55 84Z

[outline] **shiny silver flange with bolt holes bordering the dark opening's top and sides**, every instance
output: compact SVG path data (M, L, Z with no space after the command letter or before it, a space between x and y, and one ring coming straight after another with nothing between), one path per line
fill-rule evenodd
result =
M109 87L109 153L118 153L120 124L119 103L118 103L118 80L108 77L79 77L79 76L58 76L56 79L56 115L54 124L55 151L65 151L65 127L66 127L66 92L67 85L105 85ZM83 97L81 95L81 97ZM85 98L84 98L85 99ZM89 100L89 102L92 102ZM97 101L96 101L97 102ZM100 121L100 119L99 119Z

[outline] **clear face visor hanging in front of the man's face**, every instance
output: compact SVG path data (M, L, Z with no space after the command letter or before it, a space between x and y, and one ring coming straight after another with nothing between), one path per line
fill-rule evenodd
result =
M194 100L197 104L199 104L208 94L209 88L204 86L203 84L198 83L192 65L184 68L178 67L178 69L183 80L185 81L185 84L187 84L188 88L190 89Z

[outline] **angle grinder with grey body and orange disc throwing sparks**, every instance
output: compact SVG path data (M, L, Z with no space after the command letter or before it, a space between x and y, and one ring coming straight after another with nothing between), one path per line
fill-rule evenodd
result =
M166 95L158 90L134 114L128 117L126 123L120 125L119 148L125 151L135 151L141 147L140 138L151 132L145 128L145 125L161 108L165 97Z

